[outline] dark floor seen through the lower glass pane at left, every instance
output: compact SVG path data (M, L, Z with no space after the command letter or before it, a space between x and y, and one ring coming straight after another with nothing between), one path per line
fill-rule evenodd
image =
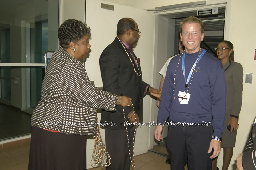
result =
M0 103L0 140L31 133L31 114Z

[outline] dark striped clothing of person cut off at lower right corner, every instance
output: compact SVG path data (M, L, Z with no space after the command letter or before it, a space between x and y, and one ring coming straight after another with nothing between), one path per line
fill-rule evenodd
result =
M256 119L255 119L256 120ZM252 136L247 141L246 148L242 157L243 169L256 169L256 125L254 123Z

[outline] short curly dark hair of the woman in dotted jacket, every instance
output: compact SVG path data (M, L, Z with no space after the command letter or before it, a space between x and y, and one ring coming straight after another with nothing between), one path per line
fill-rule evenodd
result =
M82 21L76 19L68 19L64 21L58 29L58 39L60 46L68 49L68 45L71 41L77 42L82 37L91 34L90 27Z

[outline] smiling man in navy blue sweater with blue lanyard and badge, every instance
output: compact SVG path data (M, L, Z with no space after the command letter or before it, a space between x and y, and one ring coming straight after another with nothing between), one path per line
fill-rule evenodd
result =
M204 38L200 19L184 19L180 38L185 52L174 57L167 68L158 111L158 122L162 124L155 130L155 139L163 138L161 132L167 123L171 169L184 169L186 149L190 170L211 170L211 159L220 154L224 130L224 70L217 58L200 48Z

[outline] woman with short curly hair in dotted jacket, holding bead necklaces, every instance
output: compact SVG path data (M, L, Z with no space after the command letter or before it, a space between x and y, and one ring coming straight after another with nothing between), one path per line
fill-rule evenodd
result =
M60 47L50 60L41 101L31 117L29 170L86 169L86 135L96 133L96 109L115 111L131 98L95 88L79 61L89 53L90 28L68 19L58 29Z

